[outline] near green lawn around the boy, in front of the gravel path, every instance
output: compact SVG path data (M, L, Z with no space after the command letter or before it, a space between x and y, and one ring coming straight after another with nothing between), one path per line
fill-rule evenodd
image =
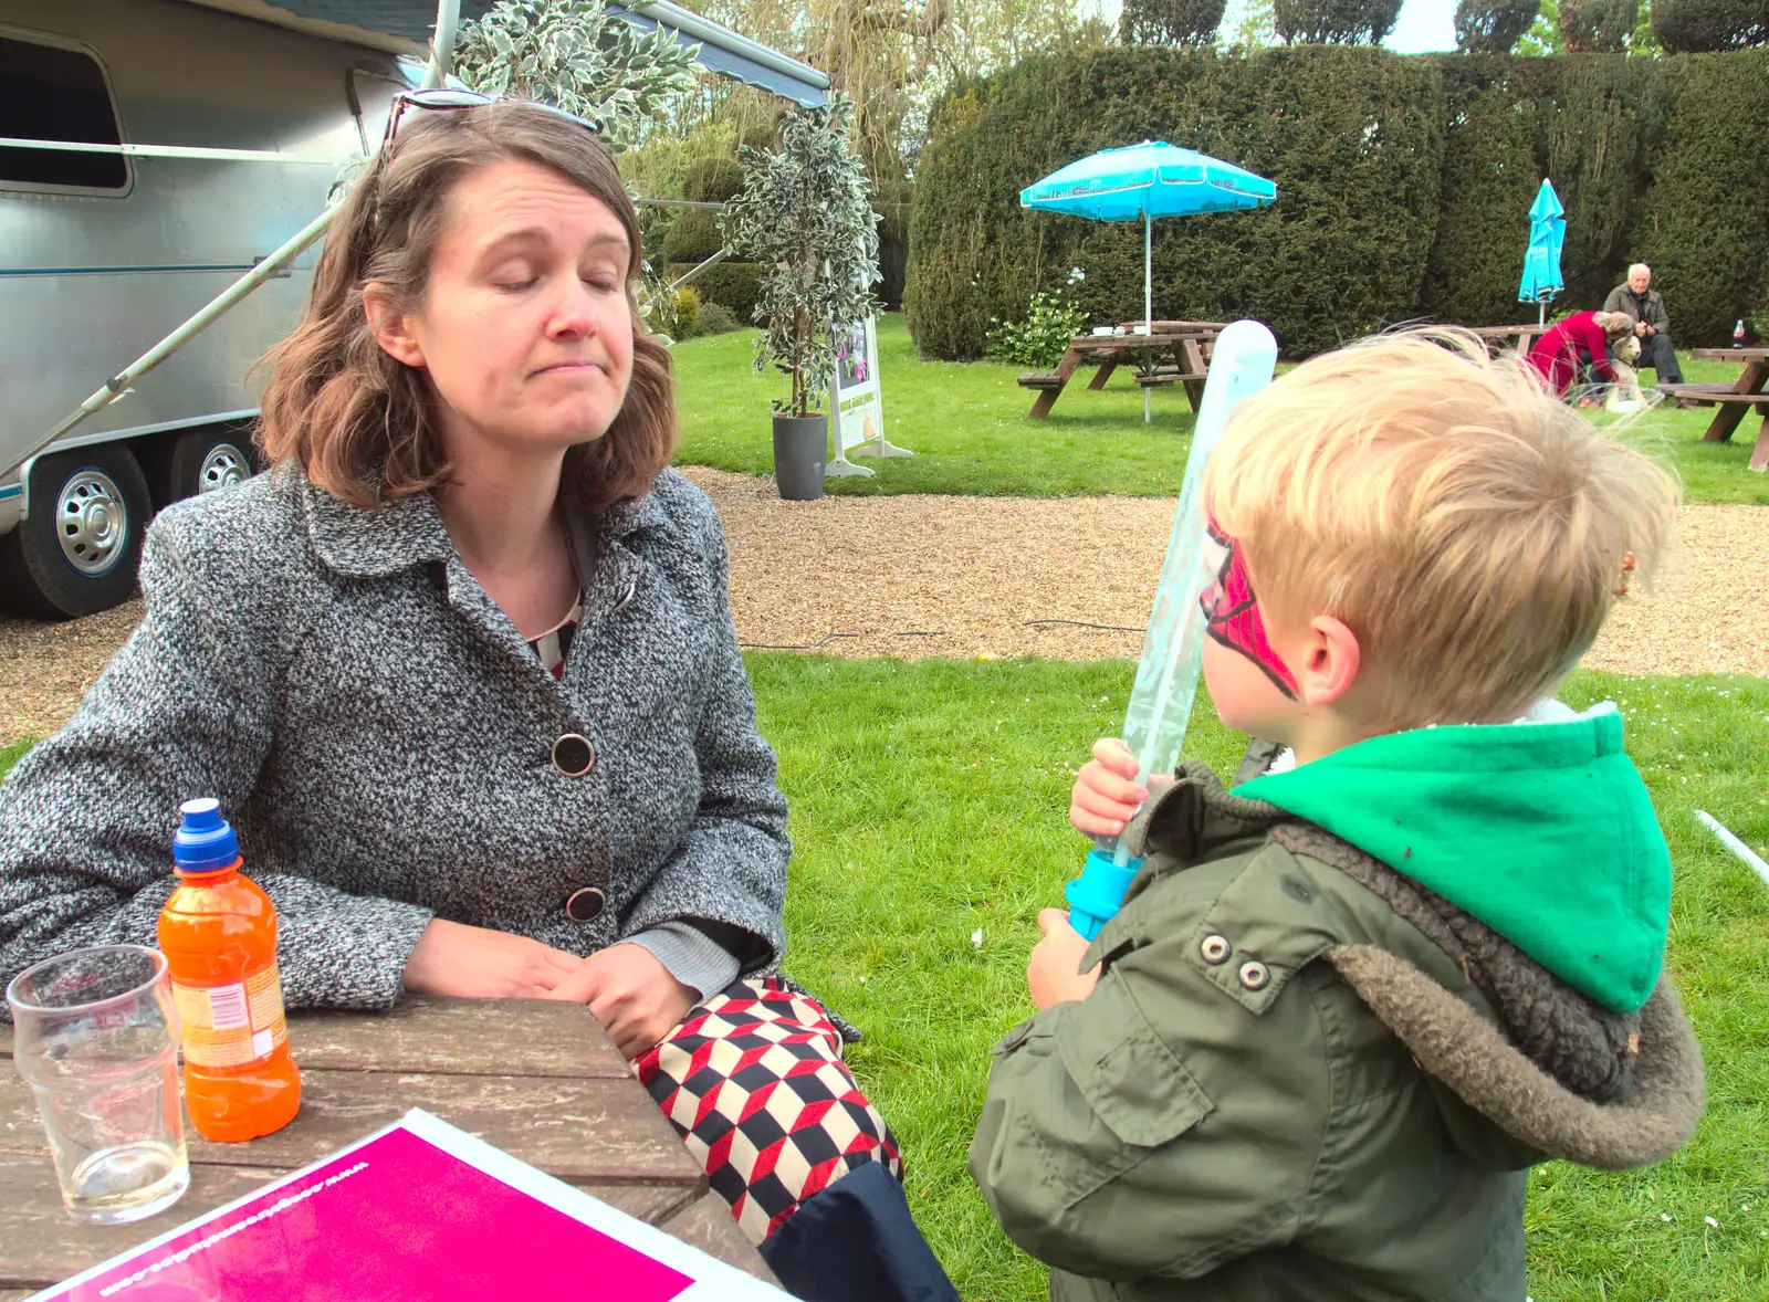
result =
M1037 913L1060 904L1086 851L1065 817L1074 768L1122 725L1134 667L794 655L748 665L793 800L787 969L865 1030L851 1061L902 1141L911 1205L962 1297L1042 1298L1042 1267L994 1228L966 1148L989 1045L1031 1012ZM1670 966L1705 1049L1709 1109L1656 1168L1537 1169L1530 1293L1765 1298L1769 888L1693 810L1769 844L1769 681L1578 674L1562 697L1610 697L1627 715L1675 862ZM1228 770L1240 738L1208 699L1194 718L1189 754ZM0 750L0 773L23 748Z

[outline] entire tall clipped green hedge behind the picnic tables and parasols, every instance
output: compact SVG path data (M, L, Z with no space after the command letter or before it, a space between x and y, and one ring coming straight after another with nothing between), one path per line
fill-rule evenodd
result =
M1141 317L1143 234L1028 212L1019 191L1097 149L1169 140L1277 182L1256 212L1155 223L1155 317L1272 326L1307 356L1413 318L1534 317L1516 301L1528 205L1567 209L1555 310L1597 308L1652 262L1679 345L1723 343L1769 301L1769 51L1398 57L1304 46L1245 58L1107 50L962 83L932 115L906 311L923 352L982 354L1070 267L1095 324Z

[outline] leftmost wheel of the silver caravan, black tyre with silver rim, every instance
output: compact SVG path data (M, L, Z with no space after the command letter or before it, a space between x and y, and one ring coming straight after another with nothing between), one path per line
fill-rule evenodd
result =
M39 619L74 619L129 600L152 513L147 478L127 448L42 456L30 471L30 517L0 536L9 605Z

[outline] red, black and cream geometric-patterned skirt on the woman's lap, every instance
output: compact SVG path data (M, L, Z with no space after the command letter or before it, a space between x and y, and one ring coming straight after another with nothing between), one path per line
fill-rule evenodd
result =
M854 1168L884 1162L902 1178L895 1137L842 1061L840 1031L778 976L732 982L633 1070L752 1244Z

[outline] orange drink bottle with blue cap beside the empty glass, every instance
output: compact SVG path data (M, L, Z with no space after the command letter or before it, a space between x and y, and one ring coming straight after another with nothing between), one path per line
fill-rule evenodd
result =
M257 1139L301 1107L276 975L276 906L239 874L239 840L219 801L189 800L179 812L179 886L159 913L159 948L184 1022L184 1107L205 1139Z

